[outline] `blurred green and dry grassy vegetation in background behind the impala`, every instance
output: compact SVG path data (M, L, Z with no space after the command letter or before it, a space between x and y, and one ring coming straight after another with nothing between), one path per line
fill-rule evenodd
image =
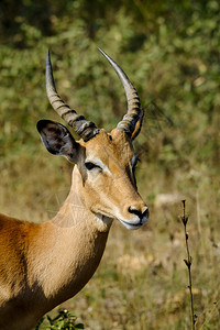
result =
M45 152L35 129L43 118L59 121L45 92L48 47L59 94L98 127L116 125L125 98L97 46L127 72L145 108L135 148L151 220L135 232L114 223L96 275L64 304L86 329L190 328L182 199L190 213L196 326L219 329L219 12L217 0L0 3L2 212L44 221L70 185L70 165Z

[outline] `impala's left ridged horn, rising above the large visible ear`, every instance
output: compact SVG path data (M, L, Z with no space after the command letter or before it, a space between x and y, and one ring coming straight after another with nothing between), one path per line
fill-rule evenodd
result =
M82 116L77 114L77 112L72 110L58 96L53 77L50 51L46 56L46 92L54 110L82 138L85 142L99 133L99 130L94 122L87 121Z

